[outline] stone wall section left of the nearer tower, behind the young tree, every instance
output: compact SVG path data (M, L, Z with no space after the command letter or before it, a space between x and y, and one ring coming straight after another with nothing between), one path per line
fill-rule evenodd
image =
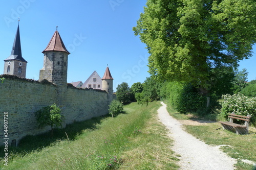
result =
M0 83L0 138L4 139L4 112L8 112L9 143L26 135L45 132L38 129L34 112L56 101L57 86L12 76ZM3 142L1 142L2 144Z

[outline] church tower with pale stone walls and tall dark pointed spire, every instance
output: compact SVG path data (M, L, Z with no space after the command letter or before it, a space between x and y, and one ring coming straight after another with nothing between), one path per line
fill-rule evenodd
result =
M18 77L26 77L27 61L22 57L22 47L20 45L19 37L19 23L16 36L12 46L11 55L4 60L4 74L15 75Z

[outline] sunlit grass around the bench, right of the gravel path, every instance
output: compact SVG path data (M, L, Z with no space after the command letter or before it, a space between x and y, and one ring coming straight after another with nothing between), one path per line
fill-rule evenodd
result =
M167 107L169 114L180 120L196 119L190 115L176 112ZM242 160L256 162L256 130L249 127L249 134L237 135L236 133L223 130L220 123L208 123L200 126L184 125L186 131L203 140L206 144L221 145L220 149L228 156L238 160L237 169L256 169L253 165Z

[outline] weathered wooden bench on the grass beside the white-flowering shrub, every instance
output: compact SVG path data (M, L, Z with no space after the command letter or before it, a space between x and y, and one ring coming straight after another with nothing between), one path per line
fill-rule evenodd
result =
M231 130L231 131L237 131L237 134L247 134L249 132L249 122L250 122L250 118L251 115L247 115L247 116L241 116L241 115L237 115L234 113L228 114L230 120L229 122L219 122L221 123L223 129L227 129L227 130ZM239 124L234 124L233 123L233 119L239 119L239 120L244 120L245 124L244 125L239 125Z

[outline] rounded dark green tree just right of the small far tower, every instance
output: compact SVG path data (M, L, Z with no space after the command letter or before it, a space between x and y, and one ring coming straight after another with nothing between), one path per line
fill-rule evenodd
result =
M130 102L130 87L128 83L121 83L116 88L116 97L123 105Z

